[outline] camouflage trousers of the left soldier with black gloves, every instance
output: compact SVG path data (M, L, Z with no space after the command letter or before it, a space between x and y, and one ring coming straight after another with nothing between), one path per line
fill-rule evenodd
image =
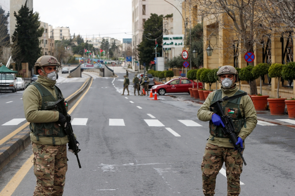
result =
M32 142L36 187L34 196L61 196L68 170L67 144L44 145Z

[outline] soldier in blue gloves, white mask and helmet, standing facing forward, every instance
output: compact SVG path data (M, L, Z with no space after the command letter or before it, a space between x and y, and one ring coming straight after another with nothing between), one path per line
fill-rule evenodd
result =
M242 94L235 84L238 81L238 73L232 66L223 66L217 72L221 89L208 95L204 104L198 110L198 118L201 121L209 121L209 139L205 147L203 161L201 163L203 192L205 196L215 194L215 181L219 170L225 162L227 175L227 196L240 194L240 174L243 161L237 150L233 147L228 135L222 131L224 127L221 118L214 113L214 108L209 106L225 96L231 97ZM224 101L221 104L225 115L232 117L235 134L241 147L245 147L246 137L253 131L257 124L257 114L248 95Z

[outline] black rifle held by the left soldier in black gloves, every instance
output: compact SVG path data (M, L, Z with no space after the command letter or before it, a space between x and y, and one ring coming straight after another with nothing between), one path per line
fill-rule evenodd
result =
M65 116L65 119L67 120L67 122L66 122L67 126L65 127L65 133L68 135L68 138L69 138L69 147L72 147L72 149L74 150L74 154L77 157L79 168L81 168L81 164L80 164L79 157L78 157L78 152L80 152L81 150L77 146L76 138L74 136L73 128L72 128L72 124L71 124L71 116L67 112L64 101L65 101L65 98L61 97L60 99L58 99L58 101L55 103L55 105L61 109L63 115Z

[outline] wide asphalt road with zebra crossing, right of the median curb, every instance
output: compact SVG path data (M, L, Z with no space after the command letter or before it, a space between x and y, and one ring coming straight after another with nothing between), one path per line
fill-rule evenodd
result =
M133 90L132 95L121 96L124 74L117 75L113 83L113 78L95 78L71 114L72 123L83 118L80 122L86 125L73 125L82 168L69 153L64 195L203 195L201 161L209 130L208 122L196 117L199 105L170 96L158 96L160 100L153 101L147 96L133 96ZM163 126L149 126L147 122L159 123L150 120ZM192 120L201 126L186 126L178 120ZM240 195L294 195L294 151L282 145L288 141L269 142L281 138L270 134L285 131L294 134L293 128L283 125L257 125L247 137L247 166L240 179L244 184ZM266 140L262 135L270 137ZM29 146L4 167L0 190L30 155ZM32 195L34 187L32 167L12 195ZM226 189L221 170L215 195L226 195Z

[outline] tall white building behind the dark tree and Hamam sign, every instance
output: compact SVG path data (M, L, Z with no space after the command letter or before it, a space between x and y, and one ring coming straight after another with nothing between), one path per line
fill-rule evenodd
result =
M182 11L182 1L167 0L173 4L180 12ZM155 0L132 0L132 51L135 53L136 46L142 41L143 25L151 16L151 13L158 15L173 14L173 34L182 34L182 16L179 11L165 1ZM171 31L171 29L170 29ZM175 51L174 56L178 55ZM134 66L136 56L132 56L132 69L137 69Z

